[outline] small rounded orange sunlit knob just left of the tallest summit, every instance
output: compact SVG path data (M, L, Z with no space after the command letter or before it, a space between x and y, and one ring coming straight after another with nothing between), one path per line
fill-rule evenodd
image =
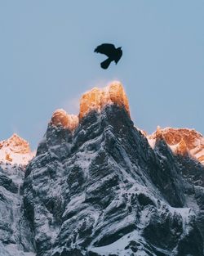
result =
M68 115L67 112L62 109L55 110L51 117L51 124L55 126L62 125L64 128L73 130L78 126L78 116Z

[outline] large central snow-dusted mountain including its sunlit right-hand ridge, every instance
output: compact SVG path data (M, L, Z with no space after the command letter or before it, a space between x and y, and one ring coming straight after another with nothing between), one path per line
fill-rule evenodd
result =
M25 174L2 164L0 255L203 256L202 145L135 128L121 83L93 88L78 116L55 111Z

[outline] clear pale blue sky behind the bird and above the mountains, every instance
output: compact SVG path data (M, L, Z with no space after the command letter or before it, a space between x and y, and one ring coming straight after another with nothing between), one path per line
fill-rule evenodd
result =
M109 70L100 43L122 46ZM78 114L82 92L113 79L135 126L204 133L204 1L0 0L0 140L35 149L55 109Z

